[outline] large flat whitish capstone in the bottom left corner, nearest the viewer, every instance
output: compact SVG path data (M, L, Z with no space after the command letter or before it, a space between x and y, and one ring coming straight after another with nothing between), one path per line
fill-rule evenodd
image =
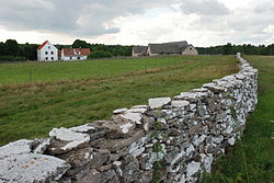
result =
M11 155L0 159L0 182L54 182L70 168L66 161L36 153Z

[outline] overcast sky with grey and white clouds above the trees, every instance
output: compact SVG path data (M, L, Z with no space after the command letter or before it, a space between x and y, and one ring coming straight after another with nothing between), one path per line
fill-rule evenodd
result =
M274 43L273 0L0 0L0 42Z

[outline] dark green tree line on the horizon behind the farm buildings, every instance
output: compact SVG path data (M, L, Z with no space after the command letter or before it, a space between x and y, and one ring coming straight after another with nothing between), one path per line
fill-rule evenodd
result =
M25 61L37 59L37 44L18 44L14 39L7 39L4 43L0 42L0 61ZM85 41L76 39L72 45L56 45L58 49L66 47L73 48L90 48L91 54L89 58L104 58L117 56L132 56L133 46L122 45L104 45L90 44ZM244 55L274 55L274 44L259 45L251 44L232 45L230 43L220 46L197 47L201 55L235 55L242 53Z

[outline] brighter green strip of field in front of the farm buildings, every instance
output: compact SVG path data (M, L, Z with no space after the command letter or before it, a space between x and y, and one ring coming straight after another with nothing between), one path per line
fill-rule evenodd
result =
M195 59L201 58L196 57ZM126 72L173 66L181 61L181 57L159 57L157 59L136 58L0 64L0 84L80 78L111 78Z

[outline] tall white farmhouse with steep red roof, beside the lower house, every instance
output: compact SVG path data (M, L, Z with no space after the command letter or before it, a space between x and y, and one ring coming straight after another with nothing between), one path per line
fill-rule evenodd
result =
M58 49L48 41L44 42L37 48L38 61L56 61L58 60Z

